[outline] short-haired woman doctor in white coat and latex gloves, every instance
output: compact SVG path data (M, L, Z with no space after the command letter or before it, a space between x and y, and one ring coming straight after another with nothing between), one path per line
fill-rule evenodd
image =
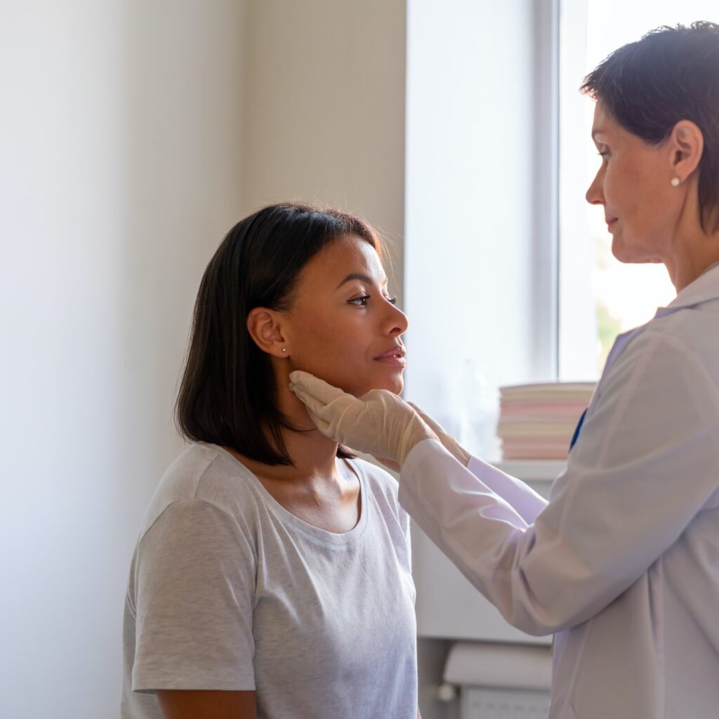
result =
M549 502L386 390L303 372L324 434L401 466L400 503L527 633L554 633L552 719L719 707L719 26L661 28L585 78L622 262L677 298L619 336Z

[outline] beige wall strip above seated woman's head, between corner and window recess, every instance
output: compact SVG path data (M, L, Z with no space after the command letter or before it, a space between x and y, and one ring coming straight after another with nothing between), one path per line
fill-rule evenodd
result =
M404 0L249 2L242 196L247 211L295 199L365 216L400 298L405 26Z

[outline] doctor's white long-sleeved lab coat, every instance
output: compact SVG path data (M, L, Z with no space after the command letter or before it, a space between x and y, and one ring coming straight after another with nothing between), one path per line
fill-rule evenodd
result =
M400 503L509 623L551 719L719 716L719 267L620 336L549 503L434 440Z

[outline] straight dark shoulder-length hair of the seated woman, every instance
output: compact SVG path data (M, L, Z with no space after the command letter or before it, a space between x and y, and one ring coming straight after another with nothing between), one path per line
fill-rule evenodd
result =
M280 412L270 357L249 335L247 316L256 307L290 308L303 267L349 234L381 257L380 238L364 220L299 203L265 207L226 234L195 303L175 405L185 439L229 446L265 464L293 464L281 430L296 428ZM353 455L340 445L337 456Z

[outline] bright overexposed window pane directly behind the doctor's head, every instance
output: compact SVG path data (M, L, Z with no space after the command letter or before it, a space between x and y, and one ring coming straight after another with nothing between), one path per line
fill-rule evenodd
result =
M664 265L622 265L601 208L584 194L599 168L594 104L582 78L617 47L661 25L719 20L716 0L566 0L559 10L559 379L599 375L615 336L672 301Z

